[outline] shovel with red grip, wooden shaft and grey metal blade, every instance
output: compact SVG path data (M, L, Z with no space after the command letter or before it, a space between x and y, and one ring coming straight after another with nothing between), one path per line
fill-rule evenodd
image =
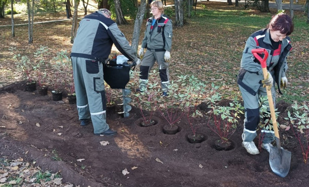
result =
M252 49L251 52L253 55L257 58L257 60L260 62L262 70L263 70L263 76L264 79L267 78L267 68L266 68L266 59L268 57L268 52L264 48L257 48ZM264 58L261 58L257 53L264 53ZM279 137L279 131L276 121L276 115L275 115L275 109L272 101L272 95L271 91L268 91L268 88L266 88L268 102L269 102L269 109L271 114L271 120L273 129L275 132L275 139L277 147L270 146L270 153L269 153L269 165L271 170L280 177L286 177L290 170L291 165L291 152L284 150L281 147L280 144L280 137Z

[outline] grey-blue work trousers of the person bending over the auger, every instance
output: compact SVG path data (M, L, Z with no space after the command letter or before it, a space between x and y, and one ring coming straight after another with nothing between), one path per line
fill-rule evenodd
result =
M91 118L94 133L103 133L109 129L106 123L103 63L72 57L72 66L79 119Z

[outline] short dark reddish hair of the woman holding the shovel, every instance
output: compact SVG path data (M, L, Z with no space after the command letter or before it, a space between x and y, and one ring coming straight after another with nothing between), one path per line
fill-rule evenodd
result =
M281 34L286 34L286 36L291 35L294 31L294 24L290 16L285 13L278 13L272 16L267 28L271 26L272 30L280 31Z

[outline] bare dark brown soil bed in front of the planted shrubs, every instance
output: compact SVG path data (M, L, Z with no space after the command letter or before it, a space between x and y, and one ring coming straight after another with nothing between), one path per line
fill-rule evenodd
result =
M142 116L132 107L122 118L107 108L107 123L117 130L113 137L95 136L92 124L80 126L76 105L66 98L53 101L51 92L23 91L20 84L0 89L0 158L23 158L42 170L60 171L63 182L81 187L304 187L309 184L309 166L304 164L296 139L284 133L282 146L292 152L285 178L269 166L269 154L250 155L241 146L243 121L231 137L234 148L218 151L218 137L207 128L207 117L197 118L197 132L207 136L202 143L188 142L191 128L186 118L175 135L162 132L162 123L136 125ZM282 104L282 103L281 103ZM284 104L282 104L284 105ZM280 108L279 104L279 108ZM284 105L285 106L285 105ZM282 132L280 132L281 136ZM102 145L100 142L108 141ZM258 139L255 140L258 144ZM127 175L123 170L127 170Z

